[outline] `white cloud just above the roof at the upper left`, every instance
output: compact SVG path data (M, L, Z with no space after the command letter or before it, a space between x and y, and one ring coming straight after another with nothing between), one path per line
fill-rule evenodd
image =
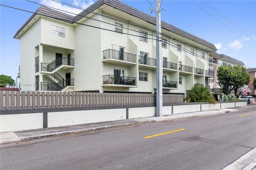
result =
M87 8L88 6L90 6L93 3L94 2L92 0L88 0L86 2L85 1L79 1L79 0L73 0L72 4L75 5L75 6L78 6L78 7ZM63 12L63 11L60 11L60 12L63 12L63 13L69 14L69 15L73 15L73 16L75 14L78 14L78 13L82 12L82 10L79 10L78 8L71 7L69 5L64 5L64 4L54 2L54 1L51 1L51 0L41 0L40 4L43 4L45 6L54 7L54 8L57 8L59 10L68 11L68 12Z

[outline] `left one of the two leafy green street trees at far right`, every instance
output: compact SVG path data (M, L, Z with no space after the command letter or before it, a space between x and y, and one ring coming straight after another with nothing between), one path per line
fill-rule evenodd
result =
M231 66L220 66L217 70L218 84L223 94L228 95L233 90L235 70Z

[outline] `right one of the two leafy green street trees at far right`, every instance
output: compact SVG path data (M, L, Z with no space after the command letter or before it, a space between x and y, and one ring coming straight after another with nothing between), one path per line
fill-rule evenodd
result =
M243 66L233 66L235 71L233 89L235 91L235 96L237 95L237 91L239 88L244 87L244 85L249 84L250 82L250 74L247 72L245 67Z

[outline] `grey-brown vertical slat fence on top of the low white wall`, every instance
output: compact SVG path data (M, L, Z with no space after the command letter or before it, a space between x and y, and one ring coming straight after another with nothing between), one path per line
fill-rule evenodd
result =
M0 91L0 110L155 104L155 94ZM183 94L164 94L163 103L183 103Z

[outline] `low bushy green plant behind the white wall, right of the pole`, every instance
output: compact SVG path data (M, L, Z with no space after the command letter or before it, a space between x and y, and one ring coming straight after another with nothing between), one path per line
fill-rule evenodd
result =
M186 100L188 102L216 103L216 100L213 98L211 91L201 84L195 84L195 86L192 87L192 89L187 93Z

